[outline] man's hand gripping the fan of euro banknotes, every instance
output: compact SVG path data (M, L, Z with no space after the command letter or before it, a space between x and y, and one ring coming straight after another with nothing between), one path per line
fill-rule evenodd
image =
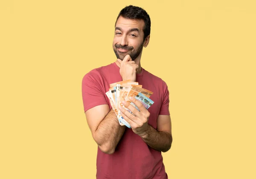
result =
M129 102L123 101L122 104L128 108L132 114L122 106L119 108L120 114L131 125L135 134L143 136L145 135L145 131L148 129L148 118L150 113L139 100L134 99L134 97L130 97L130 100L137 106L137 108L139 108L140 111L138 111Z

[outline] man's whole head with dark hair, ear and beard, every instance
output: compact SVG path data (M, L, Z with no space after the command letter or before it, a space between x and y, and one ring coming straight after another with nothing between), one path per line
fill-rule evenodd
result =
M115 23L113 50L116 57L123 60L129 54L132 60L141 56L150 37L151 21L148 13L137 6L122 9Z

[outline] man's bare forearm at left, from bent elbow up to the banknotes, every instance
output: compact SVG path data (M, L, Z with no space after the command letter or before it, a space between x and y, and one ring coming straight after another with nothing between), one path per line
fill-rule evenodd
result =
M96 129L95 136L99 148L104 153L113 153L116 145L125 131L125 126L119 125L116 114L111 110Z

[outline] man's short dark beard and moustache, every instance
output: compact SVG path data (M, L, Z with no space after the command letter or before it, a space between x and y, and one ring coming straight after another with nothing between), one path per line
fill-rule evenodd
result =
M124 60L126 55L130 55L131 60L134 61L140 55L140 53L143 49L143 43L141 43L140 46L138 47L138 49L135 49L134 51L132 51L134 49L134 47L132 47L132 46L127 46L127 45L122 46L120 44L113 45L113 50L116 54L116 58L119 58L120 60ZM124 50L129 50L129 51L122 52L122 51L118 51L117 48L122 48Z

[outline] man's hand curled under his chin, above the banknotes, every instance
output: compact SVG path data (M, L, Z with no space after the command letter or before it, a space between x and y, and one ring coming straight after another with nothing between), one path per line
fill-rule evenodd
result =
M123 60L117 59L120 63L120 75L122 80L131 80L132 82L136 81L136 72L139 68L134 61L132 61L130 55L126 55Z

